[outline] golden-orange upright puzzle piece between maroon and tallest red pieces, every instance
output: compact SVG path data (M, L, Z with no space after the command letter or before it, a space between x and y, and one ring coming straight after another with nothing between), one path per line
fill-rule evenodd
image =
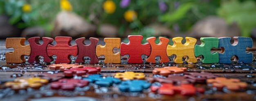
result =
M121 56L120 52L114 53L113 49L120 48L121 39L120 38L105 38L104 42L106 45L97 45L96 55L105 56L104 63L120 63Z

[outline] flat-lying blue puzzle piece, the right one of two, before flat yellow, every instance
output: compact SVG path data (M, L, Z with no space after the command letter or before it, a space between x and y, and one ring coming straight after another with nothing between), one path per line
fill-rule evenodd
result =
M150 83L145 80L128 80L118 85L121 92L141 92L150 87Z

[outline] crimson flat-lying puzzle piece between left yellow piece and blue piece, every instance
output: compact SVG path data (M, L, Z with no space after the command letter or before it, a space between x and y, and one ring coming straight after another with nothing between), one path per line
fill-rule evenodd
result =
M79 80L79 79L61 79L57 82L51 83L51 88L58 90L74 90L75 87L84 87L88 85L88 81L86 80Z

